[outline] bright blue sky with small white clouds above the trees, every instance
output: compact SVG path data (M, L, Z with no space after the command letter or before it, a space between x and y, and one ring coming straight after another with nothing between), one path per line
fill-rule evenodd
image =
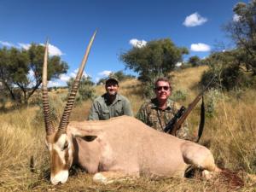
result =
M65 84L97 29L85 73L96 82L104 74L124 70L121 52L159 38L171 38L189 49L189 58L210 54L218 42L228 43L221 26L233 19L236 0L0 0L0 48L44 44L61 55L69 71ZM247 1L244 1L247 3ZM186 59L185 58L185 59ZM132 73L125 70L125 73ZM134 73L133 73L134 74Z

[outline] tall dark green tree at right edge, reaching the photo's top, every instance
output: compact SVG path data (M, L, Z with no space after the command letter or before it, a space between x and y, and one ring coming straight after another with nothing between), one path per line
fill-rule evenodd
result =
M236 47L224 52L212 53L203 62L210 70L204 73L202 84L218 76L218 82L226 90L243 88L255 84L256 75L256 0L249 3L236 3L236 15L224 26Z

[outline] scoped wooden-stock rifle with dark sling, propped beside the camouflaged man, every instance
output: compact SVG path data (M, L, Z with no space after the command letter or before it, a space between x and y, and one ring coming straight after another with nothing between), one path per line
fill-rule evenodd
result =
M183 106L177 111L177 113L174 115L174 117L168 122L166 125L164 131L166 133L172 134L173 136L176 136L176 132L178 129L180 129L181 125L183 124L184 120L187 119L189 113L192 111L193 108L195 108L195 105L203 98L203 93L207 90L207 88L212 84L213 79L215 79L216 76L214 76L211 81L207 84L207 86L201 90L201 93L195 97L194 101L189 104L188 108L184 108ZM203 115L202 115L203 113ZM201 120L203 116L203 122L201 121L200 129L198 131L198 139L199 141L202 129L204 125L204 102L202 100L202 106L201 106Z

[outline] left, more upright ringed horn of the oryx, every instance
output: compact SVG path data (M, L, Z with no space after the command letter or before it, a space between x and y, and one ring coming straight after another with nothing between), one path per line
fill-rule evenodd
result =
M47 39L47 42L45 44L45 51L44 51L44 66L43 66L43 78L42 78L42 96L43 96L45 131L46 131L47 135L51 135L55 130L54 130L54 127L52 125L51 118L50 118L49 98L48 98L48 90L47 90L48 45L49 45L49 40Z

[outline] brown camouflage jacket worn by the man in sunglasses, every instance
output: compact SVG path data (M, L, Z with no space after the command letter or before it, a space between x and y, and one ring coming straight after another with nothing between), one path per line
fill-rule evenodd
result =
M172 102L172 100L167 101L167 108L165 110L162 110L157 106L158 102L156 98L144 102L137 113L137 119L140 119L143 123L151 126L155 130L164 131L168 122L173 118L174 114L177 113L181 106L177 102ZM177 131L177 137L190 139L188 123L186 121Z

